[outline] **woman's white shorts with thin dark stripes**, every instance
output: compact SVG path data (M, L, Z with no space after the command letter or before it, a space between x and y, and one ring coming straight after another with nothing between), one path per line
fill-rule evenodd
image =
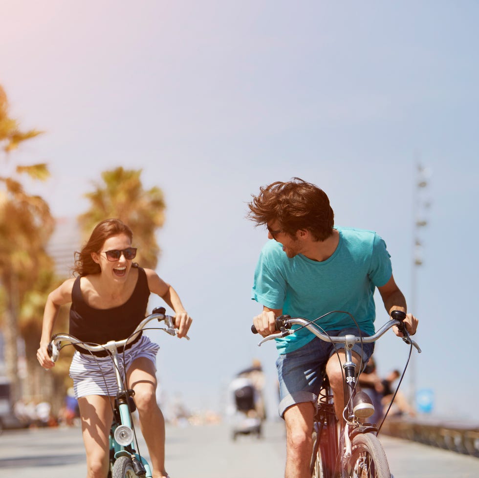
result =
M156 353L159 348L148 337L142 335L141 339L131 348L118 354L121 376L125 376L125 370L128 370L131 363L139 357L150 359L156 369ZM113 360L110 356L96 357L88 353L80 353L77 350L71 361L69 375L73 379L75 398L87 395L116 395L118 386Z

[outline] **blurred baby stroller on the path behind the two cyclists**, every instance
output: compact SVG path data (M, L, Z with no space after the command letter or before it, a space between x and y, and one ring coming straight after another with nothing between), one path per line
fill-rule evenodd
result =
M233 440L239 435L256 435L261 438L261 419L256 411L257 392L250 379L237 377L230 386L234 402Z

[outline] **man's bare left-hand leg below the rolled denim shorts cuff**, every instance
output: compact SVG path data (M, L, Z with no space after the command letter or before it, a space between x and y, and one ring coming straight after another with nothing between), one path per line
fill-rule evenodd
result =
M285 478L310 478L315 409L312 402L297 403L284 412L286 423Z

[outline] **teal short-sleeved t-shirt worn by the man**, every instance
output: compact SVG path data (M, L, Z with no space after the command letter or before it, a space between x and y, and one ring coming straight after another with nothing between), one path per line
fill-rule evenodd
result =
M268 240L255 270L252 299L283 314L314 320L332 310L349 312L360 328L374 333L375 287L392 276L386 243L375 232L336 227L339 243L326 261L312 261L302 254L289 259L283 246ZM344 313L317 321L325 330L354 327ZM314 338L306 328L277 339L280 353L292 352Z

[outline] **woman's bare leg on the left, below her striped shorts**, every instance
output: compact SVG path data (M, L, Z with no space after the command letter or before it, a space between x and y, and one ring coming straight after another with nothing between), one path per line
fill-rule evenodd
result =
M83 442L87 452L87 478L105 478L109 467L109 433L113 412L110 397L88 395L78 399Z

